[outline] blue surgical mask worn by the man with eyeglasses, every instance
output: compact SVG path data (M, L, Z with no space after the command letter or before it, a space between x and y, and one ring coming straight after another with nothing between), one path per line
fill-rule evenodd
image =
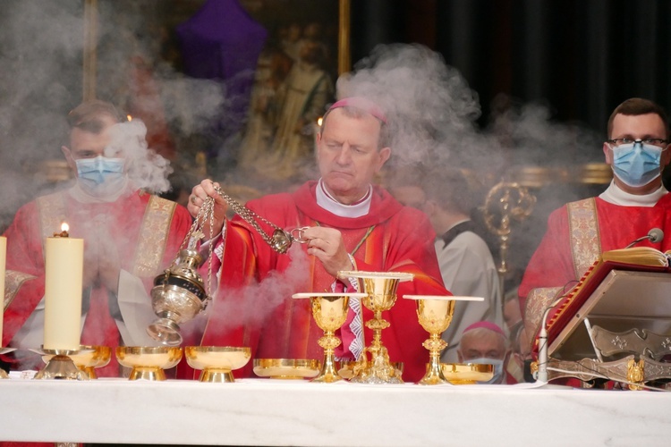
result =
M647 185L661 174L659 160L662 148L635 141L611 147L613 172L625 185L637 188Z

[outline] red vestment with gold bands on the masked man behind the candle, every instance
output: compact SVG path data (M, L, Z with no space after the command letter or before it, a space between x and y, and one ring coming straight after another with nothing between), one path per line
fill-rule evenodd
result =
M118 257L123 270L142 278L149 293L155 275L170 264L191 227L189 213L175 205L140 192L112 203L93 204L81 203L67 192L60 192L21 207L4 233L7 274L3 346L9 346L44 297L43 242L46 236L60 230L63 221L69 223L71 237L84 239L85 271L87 262L94 262L87 258L86 252L98 252L98 247L103 251L101 258ZM113 244L115 250L109 249L109 244ZM98 257L92 259L98 262ZM90 290L81 343L108 345L114 349L118 341L108 291L98 282ZM106 371L98 369L98 375L118 374L114 354L112 358L111 366Z

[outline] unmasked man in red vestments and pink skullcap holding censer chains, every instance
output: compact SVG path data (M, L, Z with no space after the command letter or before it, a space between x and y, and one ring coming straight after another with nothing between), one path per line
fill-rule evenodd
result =
M247 203L285 231L308 227L302 232L307 243L294 243L286 254L271 249L240 215L227 220L227 204L212 181L193 188L191 215L214 198L215 227L210 232L206 226L204 232L221 234L215 240L217 263L213 260L220 283L200 344L249 346L252 358L322 358L318 340L323 333L313 321L310 301L292 299L292 294L356 291L358 282L339 278L340 271L406 272L414 280L399 283L395 306L384 314L391 326L382 339L390 360L404 362L403 379L420 380L429 360L422 346L426 332L415 302L402 297L449 292L440 280L426 215L372 184L391 156L385 135L386 116L378 105L363 97L341 99L324 114L317 136L319 180ZM362 327L372 312L355 299L350 305L335 354L354 360L372 339L372 331ZM251 375L251 369L249 362L236 374ZM180 375L189 376L188 368Z

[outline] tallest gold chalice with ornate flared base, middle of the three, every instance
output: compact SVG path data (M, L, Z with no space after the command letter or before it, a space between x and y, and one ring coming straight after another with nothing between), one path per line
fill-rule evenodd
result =
M357 374L351 381L362 384L403 384L403 379L391 366L386 347L382 344L382 330L389 327L389 322L382 318L382 312L394 307L398 283L412 281L413 274L344 271L338 272L338 276L359 279L361 290L366 294L361 301L374 315L373 319L366 322L366 327L373 331L373 340L358 359L360 366L355 368ZM370 360L367 352L370 353Z

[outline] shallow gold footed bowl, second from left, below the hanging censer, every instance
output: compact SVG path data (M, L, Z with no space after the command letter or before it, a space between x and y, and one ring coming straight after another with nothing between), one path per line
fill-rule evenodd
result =
M123 367L131 367L129 380L166 380L164 369L176 366L182 359L179 346L118 346L116 359Z

